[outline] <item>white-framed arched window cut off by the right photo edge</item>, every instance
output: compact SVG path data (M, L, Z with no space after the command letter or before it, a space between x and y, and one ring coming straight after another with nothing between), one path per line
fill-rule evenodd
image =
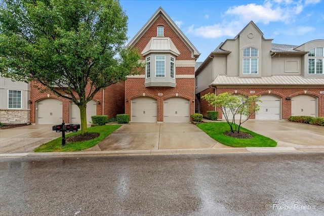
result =
M308 52L308 74L323 74L323 48L313 48Z

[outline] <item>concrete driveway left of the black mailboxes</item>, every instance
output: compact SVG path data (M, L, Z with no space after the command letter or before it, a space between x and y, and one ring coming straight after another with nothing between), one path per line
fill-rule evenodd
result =
M58 138L53 125L27 125L0 130L0 153L33 152L34 148Z

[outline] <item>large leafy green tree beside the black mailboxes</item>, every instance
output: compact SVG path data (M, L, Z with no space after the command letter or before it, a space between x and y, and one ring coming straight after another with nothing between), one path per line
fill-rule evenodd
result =
M142 70L140 54L125 47L127 19L117 0L4 0L1 75L36 80L73 101L86 134L87 103L98 91Z

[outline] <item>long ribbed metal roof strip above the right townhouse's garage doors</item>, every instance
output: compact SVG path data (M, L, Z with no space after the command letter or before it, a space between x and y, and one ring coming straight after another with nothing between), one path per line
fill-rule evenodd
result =
M322 85L324 87L324 78L305 78L301 75L274 75L255 78L218 75L211 85Z

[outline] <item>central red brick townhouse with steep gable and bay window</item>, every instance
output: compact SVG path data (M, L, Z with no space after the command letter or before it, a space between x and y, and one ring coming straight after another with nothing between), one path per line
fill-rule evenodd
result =
M131 122L189 122L194 113L194 68L200 53L162 9L130 41L146 62L125 83Z

